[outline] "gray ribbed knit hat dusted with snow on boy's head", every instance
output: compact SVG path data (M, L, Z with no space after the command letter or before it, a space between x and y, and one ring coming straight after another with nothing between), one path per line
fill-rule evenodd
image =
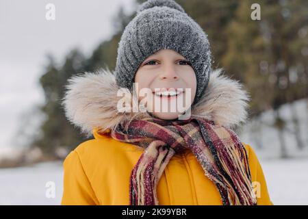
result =
M177 51L190 62L197 81L193 104L197 103L209 82L209 41L203 29L173 0L142 3L125 27L116 58L118 86L132 90L140 64L160 49Z

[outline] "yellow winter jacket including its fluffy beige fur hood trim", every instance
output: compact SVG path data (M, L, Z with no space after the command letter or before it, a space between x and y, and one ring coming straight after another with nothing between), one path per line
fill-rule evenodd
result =
M192 116L208 118L225 127L239 125L247 116L246 92L221 70L210 75L201 101L192 107ZM70 80L64 99L66 116L82 131L93 134L94 139L81 143L64 160L62 205L129 205L129 177L143 149L118 142L107 131L120 121L146 115L119 113L117 92L114 73L108 70ZM257 205L272 205L257 156L249 144L243 144L252 181L256 183ZM159 205L222 205L216 185L205 176L190 150L170 159L159 179L157 197Z

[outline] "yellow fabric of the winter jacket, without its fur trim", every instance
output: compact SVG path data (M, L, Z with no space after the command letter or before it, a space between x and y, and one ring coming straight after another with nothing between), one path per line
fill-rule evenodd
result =
M142 150L97 133L64 160L62 205L129 205L129 177ZM259 182L257 205L271 205L266 180L251 146L248 153L252 181ZM190 150L175 155L157 185L159 205L222 205L216 185Z

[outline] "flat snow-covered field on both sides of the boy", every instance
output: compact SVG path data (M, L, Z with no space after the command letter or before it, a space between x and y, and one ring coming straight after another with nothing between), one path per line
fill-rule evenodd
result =
M274 205L308 205L308 159L260 162ZM61 162L0 169L0 205L60 205L62 177ZM46 196L47 182L55 185L54 198Z

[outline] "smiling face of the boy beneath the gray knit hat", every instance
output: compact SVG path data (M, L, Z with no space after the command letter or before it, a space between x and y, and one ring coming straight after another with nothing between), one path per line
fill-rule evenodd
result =
M135 83L138 83L139 100L146 98L148 112L165 120L176 119L188 110L196 95L196 75L192 66L185 57L171 49L162 49L147 57L138 68ZM149 88L144 96L140 96L142 88ZM157 101L160 107L155 108ZM182 109L175 107L179 104ZM171 106L173 110L170 110Z

